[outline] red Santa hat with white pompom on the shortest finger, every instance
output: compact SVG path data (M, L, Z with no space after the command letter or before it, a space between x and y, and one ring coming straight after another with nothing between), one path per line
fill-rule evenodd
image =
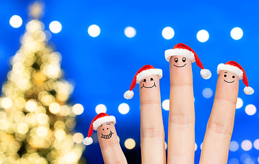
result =
M108 115L107 113L99 113L90 124L90 128L88 131L88 136L83 140L84 145L88 146L93 143L93 139L90 137L93 134L93 130L97 131L97 128L106 122L113 122L116 124L116 119L112 115Z

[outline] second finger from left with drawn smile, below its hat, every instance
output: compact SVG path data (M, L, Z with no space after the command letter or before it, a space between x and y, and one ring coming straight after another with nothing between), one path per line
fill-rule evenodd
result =
M166 163L158 75L140 81L142 163Z

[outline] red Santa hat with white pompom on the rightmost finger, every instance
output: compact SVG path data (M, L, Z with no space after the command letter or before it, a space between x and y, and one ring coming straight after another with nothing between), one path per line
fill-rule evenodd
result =
M236 61L227 61L225 64L219 64L217 68L217 73L221 72L221 70L228 70L238 77L238 79L243 79L243 83L245 84L244 92L245 94L254 94L254 89L249 87L247 81L247 74L245 74L245 70L238 64Z

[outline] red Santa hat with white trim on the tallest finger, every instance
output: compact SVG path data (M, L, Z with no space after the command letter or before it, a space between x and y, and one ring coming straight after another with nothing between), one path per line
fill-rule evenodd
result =
M179 43L176 44L173 49L168 49L164 51L165 58L167 61L170 61L170 58L172 56L183 56L189 59L192 63L196 61L197 66L201 68L201 77L204 79L210 79L211 72L210 70L204 69L204 66L202 65L201 61L199 60L198 55L193 51L193 49L190 49L190 46L187 46L185 44Z

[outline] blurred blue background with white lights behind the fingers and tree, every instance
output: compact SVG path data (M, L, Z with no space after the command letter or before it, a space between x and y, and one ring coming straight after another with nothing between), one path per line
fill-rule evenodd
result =
M217 66L230 60L243 66L255 93L247 96L243 92L245 85L240 81L228 163L259 163L259 65L256 64L259 1L40 2L44 4L44 8L40 7L44 14L37 17L32 15L32 9L29 10L34 1L0 1L1 84L10 81L8 72L14 69L12 59L23 46L21 38L29 31L27 24L32 18L38 18L42 22L40 30L44 32L41 42L57 51L58 59L62 58L62 70L54 78L63 77L74 87L73 94L63 99L73 107L77 105L75 109L84 111L75 112L76 125L71 131L86 137L90 122L97 113L114 115L116 131L128 162L140 163L138 85L132 100L123 98L123 93L130 89L134 74L145 64L163 70L160 90L167 145L170 81L169 63L164 58L164 51L182 42L190 46L204 68L212 72L212 77L204 80L199 74L200 68L193 63L195 163L199 162L212 109ZM48 77L53 78L51 75ZM2 103L2 107L9 106ZM103 163L97 134L94 132L92 137L94 143L85 150L80 149L83 162ZM81 140L73 141L81 144L82 135L79 138Z

